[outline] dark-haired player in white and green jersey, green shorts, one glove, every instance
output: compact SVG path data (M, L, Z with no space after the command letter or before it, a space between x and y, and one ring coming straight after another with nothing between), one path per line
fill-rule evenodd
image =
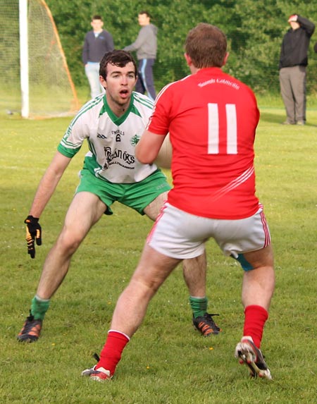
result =
M80 173L80 184L68 208L56 243L44 262L30 316L18 341L37 341L49 302L63 282L70 259L90 228L103 214L112 214L118 201L155 220L170 190L166 176L155 164L140 164L135 145L147 126L153 104L132 92L137 66L127 51L108 52L100 63L100 81L106 94L87 102L73 119L46 170L25 219L27 249L35 257L35 242L42 244L39 217L53 195L70 160L86 139L89 152ZM205 336L220 329L206 312L206 257L186 261L184 278L189 288L193 323Z

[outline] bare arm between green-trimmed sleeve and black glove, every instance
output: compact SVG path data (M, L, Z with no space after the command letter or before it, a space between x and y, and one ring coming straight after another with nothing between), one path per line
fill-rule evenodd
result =
M40 217L44 211L46 204L51 199L59 180L63 176L66 167L70 163L70 158L63 156L60 152L56 152L51 164L44 173L42 180L39 183L37 192L35 193L30 215L33 217Z

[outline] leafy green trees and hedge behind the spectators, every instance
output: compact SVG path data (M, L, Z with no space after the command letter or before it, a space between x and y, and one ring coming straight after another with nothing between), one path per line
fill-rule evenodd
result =
M54 16L70 73L76 87L87 85L82 65L82 44L91 30L94 14L104 19L116 49L132 43L139 32L137 14L147 10L159 28L158 54L154 66L156 89L189 74L183 58L187 32L197 23L217 25L228 37L230 56L224 70L246 82L256 92L280 90L278 62L287 19L297 13L317 25L314 1L287 0L46 0ZM311 38L307 88L317 93L317 54Z

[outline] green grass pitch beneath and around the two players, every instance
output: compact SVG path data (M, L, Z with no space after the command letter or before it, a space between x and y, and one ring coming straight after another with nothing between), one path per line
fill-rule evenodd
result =
M259 103L261 106L261 102ZM273 108L274 107L274 108ZM219 336L191 325L182 271L151 302L128 344L116 378L80 377L94 365L114 305L137 264L151 222L120 204L104 217L73 258L51 302L37 343L16 341L44 258L56 239L77 185L86 147L74 158L41 218L43 245L30 259L25 225L32 197L69 118L23 121L0 116L1 403L317 403L317 111L305 127L282 126L282 107L261 107L256 137L257 194L275 250L276 289L263 336L273 381L251 380L235 360L242 335L242 269L209 241L209 311ZM167 172L169 176L169 173Z

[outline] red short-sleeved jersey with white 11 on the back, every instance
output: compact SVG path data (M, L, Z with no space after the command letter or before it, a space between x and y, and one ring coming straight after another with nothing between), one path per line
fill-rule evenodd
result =
M244 219L256 213L258 123L254 93L220 68L203 68L164 87L147 129L170 133L173 189L168 202L212 219Z

